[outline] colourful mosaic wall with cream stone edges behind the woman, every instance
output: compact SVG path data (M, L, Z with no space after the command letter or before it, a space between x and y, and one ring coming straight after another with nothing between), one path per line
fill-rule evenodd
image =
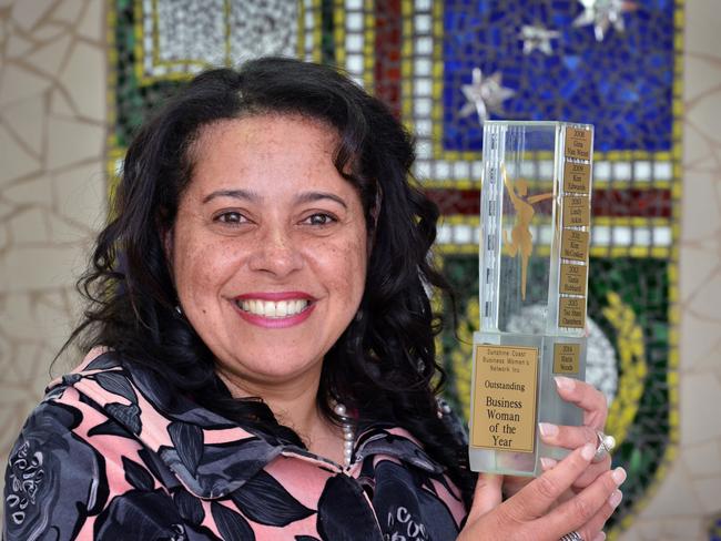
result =
M344 67L418 134L438 253L467 295L461 338L478 319L467 93L490 91L490 118L596 124L589 379L613 398L607 430L629 470L612 535L718 539L721 14L711 0L626 6L622 28L603 28L578 0L0 0L0 455L77 313L103 169L187 73L291 54ZM463 410L469 348L443 345Z

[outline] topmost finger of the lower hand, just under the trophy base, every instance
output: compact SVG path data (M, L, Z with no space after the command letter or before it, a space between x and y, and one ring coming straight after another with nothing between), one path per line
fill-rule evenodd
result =
M514 498L507 500L507 511L519 522L541 517L548 508L569 489L588 468L596 448L587 443L575 450L555 468L534 479Z

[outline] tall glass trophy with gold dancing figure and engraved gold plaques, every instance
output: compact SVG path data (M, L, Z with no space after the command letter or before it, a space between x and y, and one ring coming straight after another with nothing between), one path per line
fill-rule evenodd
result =
M593 127L484 123L479 330L469 458L475 471L538 476L538 422L581 425L555 376L586 376Z

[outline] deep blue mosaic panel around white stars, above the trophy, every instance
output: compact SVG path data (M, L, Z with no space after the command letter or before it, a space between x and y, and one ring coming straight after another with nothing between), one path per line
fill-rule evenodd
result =
M602 41L593 27L575 27L577 0L444 2L444 149L477 151L481 131L474 115L459 118L474 68L502 74L516 94L491 118L566 120L596 125L598 151L669 151L672 135L673 2L637 1ZM521 27L559 32L551 54L524 53ZM455 126L455 130L454 130Z

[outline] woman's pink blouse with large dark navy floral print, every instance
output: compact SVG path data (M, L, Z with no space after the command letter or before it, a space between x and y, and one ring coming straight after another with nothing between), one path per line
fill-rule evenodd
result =
M11 540L451 540L466 516L400 428L343 468L272 441L94 351L53 381L6 471Z

